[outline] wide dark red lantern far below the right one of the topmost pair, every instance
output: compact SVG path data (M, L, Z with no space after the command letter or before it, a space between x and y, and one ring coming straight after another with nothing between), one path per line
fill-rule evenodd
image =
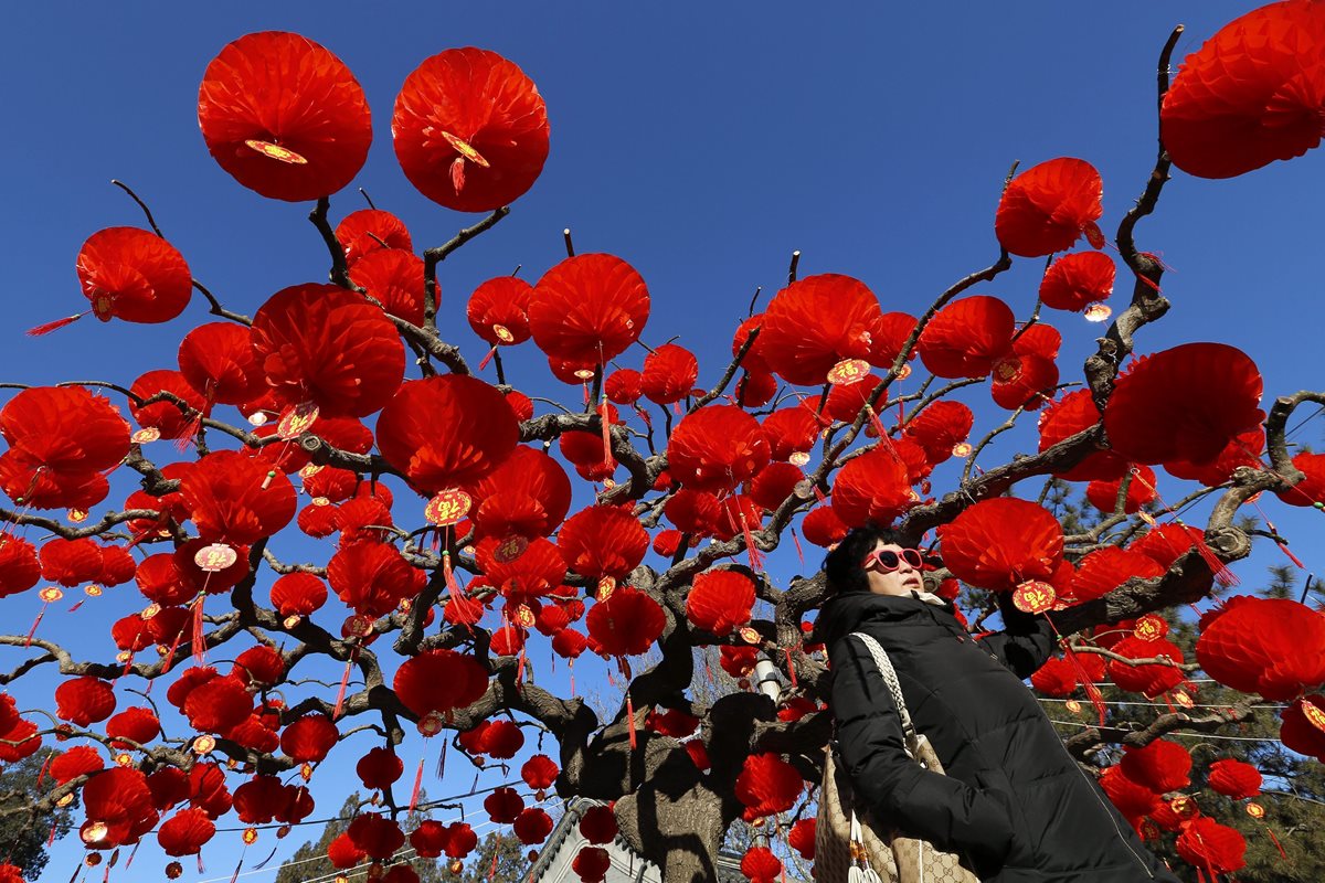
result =
M518 441L502 395L464 375L411 380L378 417L382 454L429 495L482 479Z

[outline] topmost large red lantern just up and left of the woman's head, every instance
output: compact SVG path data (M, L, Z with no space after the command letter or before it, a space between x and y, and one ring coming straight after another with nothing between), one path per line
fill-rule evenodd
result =
M798 279L768 303L758 346L768 368L792 384L818 387L844 359L880 360L878 298L864 282L825 273Z

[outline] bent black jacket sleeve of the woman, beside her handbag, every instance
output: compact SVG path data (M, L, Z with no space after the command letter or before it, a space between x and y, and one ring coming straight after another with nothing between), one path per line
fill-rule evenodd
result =
M857 805L909 837L969 853L978 864L1000 864L1012 846L1010 806L908 757L897 707L859 639L833 645L832 669L837 747Z

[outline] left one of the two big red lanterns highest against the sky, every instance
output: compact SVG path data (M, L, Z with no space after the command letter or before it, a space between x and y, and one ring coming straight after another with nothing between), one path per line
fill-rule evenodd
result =
M307 37L280 30L245 34L212 60L197 124L236 181L288 203L339 191L372 143L368 102L348 68Z

